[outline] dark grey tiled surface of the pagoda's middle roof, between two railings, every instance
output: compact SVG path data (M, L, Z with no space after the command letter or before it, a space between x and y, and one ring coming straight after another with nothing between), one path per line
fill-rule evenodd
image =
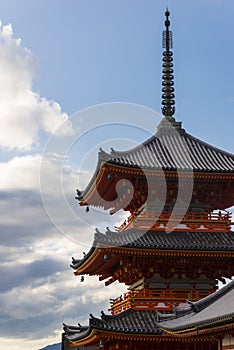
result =
M95 233L93 247L81 259L73 259L74 269L82 265L93 253L95 246L117 246L137 249L155 250L197 250L197 251L234 251L234 232L171 232L138 231L129 229L123 232L106 234Z

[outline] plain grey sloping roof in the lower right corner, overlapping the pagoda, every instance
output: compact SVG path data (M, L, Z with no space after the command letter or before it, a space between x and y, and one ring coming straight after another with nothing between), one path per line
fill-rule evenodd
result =
M203 329L220 323L233 322L234 319L234 281L209 296L191 303L186 309L178 308L172 320L160 323L164 330L180 331L191 328Z

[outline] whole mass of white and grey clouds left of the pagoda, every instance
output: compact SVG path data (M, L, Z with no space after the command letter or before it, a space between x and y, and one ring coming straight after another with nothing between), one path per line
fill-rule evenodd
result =
M45 160L43 183L54 221L45 210L41 150L59 126L58 138L74 129L57 102L33 90L36 69L37 59L14 37L12 26L0 23L0 151L6 159L0 162L0 341L5 350L59 341L64 321L85 323L90 312L106 310L108 295L122 288L113 293L96 278L80 283L73 276L71 256L80 257L90 247L99 213L93 212L88 225L79 220L84 208L74 200L77 173L69 166L61 200L55 156Z

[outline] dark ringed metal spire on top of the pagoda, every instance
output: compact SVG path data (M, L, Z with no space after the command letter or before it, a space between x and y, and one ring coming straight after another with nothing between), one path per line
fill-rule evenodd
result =
M165 12L166 30L163 31L163 70L162 70L162 114L165 117L172 117L175 113L175 94L174 94L174 75L173 75L173 52L172 49L172 31L170 27L170 12Z

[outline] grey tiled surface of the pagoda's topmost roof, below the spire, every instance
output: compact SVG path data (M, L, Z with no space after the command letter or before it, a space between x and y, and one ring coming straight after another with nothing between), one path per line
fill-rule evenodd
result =
M234 155L215 148L183 129L162 128L136 148L106 153L99 158L108 163L141 169L196 172L233 172Z

